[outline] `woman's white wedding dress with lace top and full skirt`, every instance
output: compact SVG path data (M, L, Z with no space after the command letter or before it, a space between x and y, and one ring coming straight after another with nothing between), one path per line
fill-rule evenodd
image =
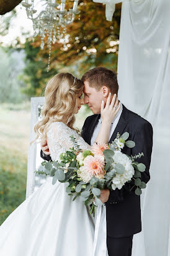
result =
M76 131L63 122L50 124L47 141L52 160L73 147L74 135L81 149L89 149ZM91 256L94 217L80 198L65 192L66 183L52 177L20 204L0 227L1 256Z

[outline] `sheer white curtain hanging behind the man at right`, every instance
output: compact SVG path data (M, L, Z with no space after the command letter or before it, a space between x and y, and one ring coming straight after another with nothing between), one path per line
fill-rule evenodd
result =
M153 125L151 180L132 256L170 256L170 1L122 3L119 98Z

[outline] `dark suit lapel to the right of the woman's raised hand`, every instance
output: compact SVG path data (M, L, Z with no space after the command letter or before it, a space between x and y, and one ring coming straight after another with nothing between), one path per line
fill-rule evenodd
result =
M117 132L119 132L119 134L122 135L123 130L127 126L128 109L123 104L122 104L122 106L123 106L122 114L120 116L117 126L115 127L114 133L112 134L112 137L109 140L109 143L112 143L112 141L116 138Z

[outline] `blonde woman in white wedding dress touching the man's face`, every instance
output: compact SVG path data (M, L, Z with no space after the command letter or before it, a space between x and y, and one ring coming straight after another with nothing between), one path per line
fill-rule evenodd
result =
M52 160L73 144L74 135L81 149L91 149L74 129L74 114L84 104L83 82L69 73L53 76L45 89L42 120L35 125L36 139L47 139ZM96 143L109 141L112 120L120 109L116 97L101 103L102 126ZM90 256L94 240L94 218L80 198L72 201L66 183L52 177L32 193L0 227L1 256Z

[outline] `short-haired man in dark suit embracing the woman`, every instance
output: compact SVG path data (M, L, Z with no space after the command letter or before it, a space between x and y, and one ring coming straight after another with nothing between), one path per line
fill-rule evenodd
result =
M102 67L87 71L82 80L84 82L84 103L88 104L94 113L94 115L87 117L85 120L82 136L88 144L92 145L102 122L100 115L101 101L103 99L106 102L109 92L112 93L112 96L118 94L119 85L116 73ZM146 165L146 170L141 173L141 181L147 183L150 180L149 168L153 145L153 128L150 122L128 110L121 103L120 110L110 127L109 143L115 139L117 132L120 135L128 132L128 140L133 140L136 144L132 149L125 146L122 153L130 156L141 152L144 153L144 157L140 158L140 162ZM42 150L42 158L50 160L48 145L42 145ZM137 196L134 192L135 188L132 188L133 181L125 183L121 190L101 190L101 201L106 206L107 249L109 256L132 255L133 234L141 232L140 196Z

